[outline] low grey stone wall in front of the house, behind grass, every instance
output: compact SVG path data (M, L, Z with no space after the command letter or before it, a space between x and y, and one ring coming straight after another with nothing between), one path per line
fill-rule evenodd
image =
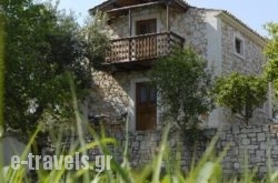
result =
M198 162L209 144L209 141L216 134L216 130L202 131L200 139L192 149L188 144L186 134L180 134L173 130L168 136L168 145L170 150L169 159L179 161L182 170L188 171L192 157ZM161 142L162 131L147 132L129 132L128 157L130 165L141 167L153 160L158 153ZM121 162L125 150L126 136L125 131L109 130L108 136L116 138L117 146L110 146L113 157ZM278 125L239 125L222 129L219 131L219 140L216 145L216 154L218 156L224 150L229 146L227 154L222 160L222 172L226 175L237 175L248 169L249 171L258 171L258 176L264 176L268 172L268 160L270 160L271 169L278 170ZM92 151L93 152L93 151ZM180 154L180 156L178 155ZM269 155L268 155L269 154ZM248 165L245 166L245 160Z

